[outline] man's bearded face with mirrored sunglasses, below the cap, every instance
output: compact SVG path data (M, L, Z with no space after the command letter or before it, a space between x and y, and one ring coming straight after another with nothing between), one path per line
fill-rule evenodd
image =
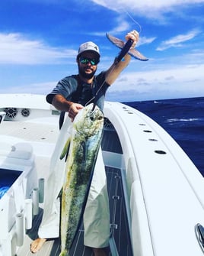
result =
M94 53L81 53L78 59L78 73L86 79L91 79L97 71L97 60L98 57Z

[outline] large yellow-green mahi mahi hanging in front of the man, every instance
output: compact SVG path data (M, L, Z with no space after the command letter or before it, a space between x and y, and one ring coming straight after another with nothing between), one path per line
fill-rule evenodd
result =
M67 152L68 157L62 189L60 256L69 255L69 249L81 222L103 126L104 115L97 105L87 105L76 115L72 124L71 138L62 151L61 158L65 157Z

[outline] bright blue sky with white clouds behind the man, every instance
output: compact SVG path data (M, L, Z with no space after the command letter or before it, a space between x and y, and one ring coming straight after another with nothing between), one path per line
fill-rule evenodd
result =
M204 0L2 0L0 93L48 93L78 72L78 46L100 47L97 73L119 53L106 33L124 40L140 31L131 60L107 93L111 101L204 96Z

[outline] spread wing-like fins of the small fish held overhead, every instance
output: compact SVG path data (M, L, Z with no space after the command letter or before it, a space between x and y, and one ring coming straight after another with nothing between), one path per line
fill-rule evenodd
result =
M110 40L110 42L112 42L114 45L116 45L116 47L119 47L120 49L123 49L123 47L126 44L119 38L113 37L112 35L110 35L108 33L107 33L107 38ZM142 53L140 53L135 48L130 48L128 53L129 53L129 55L131 55L132 57L134 57L137 60L143 60L143 61L148 60L148 58L146 58L144 55L142 55Z

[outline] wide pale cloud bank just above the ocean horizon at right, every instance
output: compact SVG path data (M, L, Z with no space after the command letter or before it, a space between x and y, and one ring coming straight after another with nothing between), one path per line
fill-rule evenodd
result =
M116 95L121 96L120 101L203 96L203 70L204 64L126 72L110 86L108 99Z

